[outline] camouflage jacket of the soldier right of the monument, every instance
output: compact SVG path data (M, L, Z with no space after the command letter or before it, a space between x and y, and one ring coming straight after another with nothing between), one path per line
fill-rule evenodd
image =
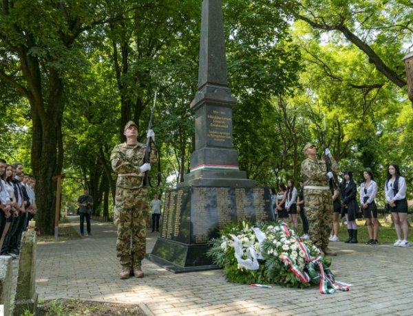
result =
M340 171L339 165L332 157L330 158L330 164L332 172L337 174L337 172ZM326 173L326 161L324 160L313 160L307 158L301 163L301 179L304 181L304 186L329 186L329 179Z

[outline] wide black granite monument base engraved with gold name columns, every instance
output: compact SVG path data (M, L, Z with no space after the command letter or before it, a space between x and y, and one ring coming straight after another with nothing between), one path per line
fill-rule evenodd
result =
M208 242L225 225L274 221L269 188L187 186L165 193L160 236L147 258L175 273L218 269Z

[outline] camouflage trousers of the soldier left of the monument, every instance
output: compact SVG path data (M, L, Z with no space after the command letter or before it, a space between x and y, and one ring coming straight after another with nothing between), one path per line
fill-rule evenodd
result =
M146 253L148 217L146 188L116 188L114 223L118 227L116 256L121 264L138 263Z

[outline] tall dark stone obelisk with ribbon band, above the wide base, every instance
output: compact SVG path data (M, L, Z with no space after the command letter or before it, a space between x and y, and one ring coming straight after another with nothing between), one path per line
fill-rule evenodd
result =
M231 185L253 188L255 181L240 171L233 147L232 106L236 100L226 73L222 1L202 2L198 93L195 112L195 151L184 185Z

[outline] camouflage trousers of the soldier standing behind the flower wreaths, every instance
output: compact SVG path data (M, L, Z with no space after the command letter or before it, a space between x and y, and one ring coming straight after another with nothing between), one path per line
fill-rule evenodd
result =
M319 249L325 249L332 225L332 194L330 190L307 189L304 201L310 239Z

